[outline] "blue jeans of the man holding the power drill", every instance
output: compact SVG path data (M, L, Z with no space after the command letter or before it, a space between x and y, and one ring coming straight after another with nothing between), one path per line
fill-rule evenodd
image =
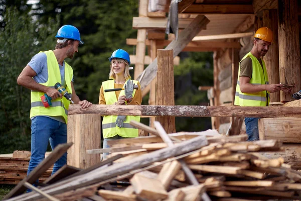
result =
M67 125L51 118L35 117L32 120L31 130L31 158L27 175L44 160L49 141L52 150L58 144L67 143ZM66 163L67 152L54 163L52 174Z

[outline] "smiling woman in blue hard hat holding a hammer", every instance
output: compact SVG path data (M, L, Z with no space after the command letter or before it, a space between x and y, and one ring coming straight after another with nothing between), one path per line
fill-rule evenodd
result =
M109 80L102 82L99 105L141 105L139 82L131 80L129 75L129 55L118 49L109 58ZM135 86L138 86L138 89ZM124 90L104 92L105 89L124 88ZM104 116L102 121L103 148L109 148L108 140L138 137L138 129L129 124L131 120L140 121L139 116ZM104 153L106 158L108 153Z

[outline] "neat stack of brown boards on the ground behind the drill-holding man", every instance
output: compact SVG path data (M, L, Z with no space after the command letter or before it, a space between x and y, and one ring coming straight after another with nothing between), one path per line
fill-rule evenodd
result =
M0 184L18 184L27 175L30 158L0 157ZM45 181L52 172L47 170L40 181Z

